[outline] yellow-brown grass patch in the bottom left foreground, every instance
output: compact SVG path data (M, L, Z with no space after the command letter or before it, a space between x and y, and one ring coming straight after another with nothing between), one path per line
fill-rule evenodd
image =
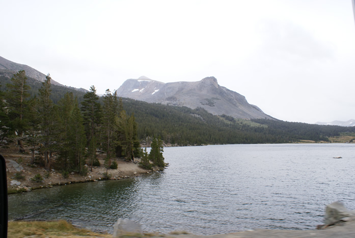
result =
M112 237L72 226L66 221L13 221L8 225L8 238L18 237Z

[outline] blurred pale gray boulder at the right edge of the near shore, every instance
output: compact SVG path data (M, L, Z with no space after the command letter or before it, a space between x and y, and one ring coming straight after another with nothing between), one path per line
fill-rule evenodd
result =
M355 211L348 210L342 202L333 202L325 207L324 224L348 221L352 216L355 216Z

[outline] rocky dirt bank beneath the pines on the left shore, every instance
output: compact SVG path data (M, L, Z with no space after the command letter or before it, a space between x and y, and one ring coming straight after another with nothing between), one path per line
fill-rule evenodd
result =
M3 152L6 160L8 193L30 192L34 189L51 188L53 186L67 185L78 182L96 182L100 180L118 180L125 179L142 174L151 173L150 170L142 169L138 164L126 162L123 159L116 159L117 169L108 169L103 166L93 167L93 171L88 172L86 176L77 173L64 175L61 171L51 169L46 171L43 167L31 165L30 154L20 154L14 152ZM100 164L103 165L104 155L98 155ZM42 179L36 181L35 176L40 175Z

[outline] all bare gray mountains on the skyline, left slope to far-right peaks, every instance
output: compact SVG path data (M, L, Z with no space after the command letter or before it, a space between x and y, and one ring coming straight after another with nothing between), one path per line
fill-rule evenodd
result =
M5 83L19 70L25 70L26 76L34 81L43 82L46 75L24 64L9 61L0 56L0 77ZM62 86L77 92L86 93L86 89L63 86L52 80L52 85ZM61 88L61 87L59 87ZM58 88L58 89L59 89ZM215 77L205 77L197 82L162 83L151 80L146 76L138 79L126 80L117 90L120 97L161 103L190 109L203 108L213 115L227 115L240 119L271 119L275 118L265 114L256 105L248 103L243 95L220 86ZM319 125L353 126L355 120L346 122L316 122Z

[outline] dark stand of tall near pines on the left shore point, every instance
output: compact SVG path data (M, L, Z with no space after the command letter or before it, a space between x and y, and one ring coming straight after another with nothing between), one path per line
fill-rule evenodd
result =
M34 81L28 84L27 80L21 70L10 80L2 81L6 85L5 90L1 85L0 91L2 146L16 142L19 152L30 150L31 164L41 164L49 171L56 162L63 172L83 175L88 172L87 167L92 171L93 166L99 166L98 152L105 154L106 169L117 168L113 158L134 161L134 157L144 155L134 115L125 112L116 92L107 89L100 98L94 86L76 95L72 89L58 86L53 94L49 74L40 87ZM149 153L148 163L163 168L166 164L162 142L155 138L153 141L155 147Z

